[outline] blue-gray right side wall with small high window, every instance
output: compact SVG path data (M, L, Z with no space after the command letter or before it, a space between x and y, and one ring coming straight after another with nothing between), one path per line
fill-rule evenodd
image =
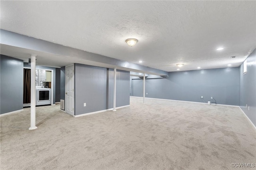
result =
M247 73L245 75L243 70L244 65L242 64L240 66L239 106L256 126L256 49L247 57Z

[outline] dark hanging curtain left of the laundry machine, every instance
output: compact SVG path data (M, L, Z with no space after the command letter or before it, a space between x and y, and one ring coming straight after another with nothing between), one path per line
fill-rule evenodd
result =
M23 103L30 103L31 93L31 69L24 69L23 79Z

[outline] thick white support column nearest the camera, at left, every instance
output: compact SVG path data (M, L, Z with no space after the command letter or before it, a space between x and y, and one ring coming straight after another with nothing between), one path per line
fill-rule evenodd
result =
M31 102L30 102L30 128L36 129L36 55L31 54Z

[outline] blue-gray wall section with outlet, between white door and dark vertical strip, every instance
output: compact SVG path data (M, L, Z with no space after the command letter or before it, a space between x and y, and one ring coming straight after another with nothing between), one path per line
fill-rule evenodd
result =
M106 68L75 64L75 115L108 109L107 90Z

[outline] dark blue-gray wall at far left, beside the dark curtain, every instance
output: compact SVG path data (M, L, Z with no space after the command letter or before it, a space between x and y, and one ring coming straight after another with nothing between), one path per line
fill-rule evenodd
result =
M23 61L0 55L0 114L23 109Z

